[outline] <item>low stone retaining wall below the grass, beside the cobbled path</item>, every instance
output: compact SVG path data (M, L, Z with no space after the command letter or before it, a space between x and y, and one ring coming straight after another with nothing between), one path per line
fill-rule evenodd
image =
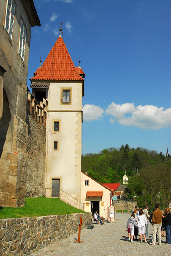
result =
M0 220L0 256L23 256L66 238L91 222L91 213ZM73 241L74 242L74 241Z

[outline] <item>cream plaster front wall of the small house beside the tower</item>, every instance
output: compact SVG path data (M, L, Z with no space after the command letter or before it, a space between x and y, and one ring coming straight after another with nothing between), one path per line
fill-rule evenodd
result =
M88 186L85 186L85 180L88 180ZM103 191L103 197L87 197L87 191ZM99 201L99 214L107 218L108 207L110 205L111 191L97 183L95 180L81 172L81 200L85 203L85 211L91 212L91 201ZM103 205L104 203L104 205ZM94 212L93 212L94 213Z

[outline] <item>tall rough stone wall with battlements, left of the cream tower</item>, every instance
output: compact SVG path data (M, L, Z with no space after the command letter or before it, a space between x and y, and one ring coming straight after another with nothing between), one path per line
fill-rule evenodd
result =
M26 196L43 196L45 188L46 111L47 100L37 104L28 92L26 123L28 124L28 168Z

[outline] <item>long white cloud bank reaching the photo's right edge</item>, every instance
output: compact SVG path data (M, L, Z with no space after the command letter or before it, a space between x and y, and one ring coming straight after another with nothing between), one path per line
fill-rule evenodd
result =
M114 116L114 119L122 125L137 126L142 129L171 128L171 108L164 110L163 107L158 108L153 105L135 107L134 103L120 105L112 102L106 113Z

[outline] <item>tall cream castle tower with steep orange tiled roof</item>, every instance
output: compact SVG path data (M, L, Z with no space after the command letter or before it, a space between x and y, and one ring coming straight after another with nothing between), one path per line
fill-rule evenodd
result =
M31 80L32 94L48 100L46 196L77 205L81 196L81 126L85 73L75 67L60 36ZM73 198L68 196L71 195ZM77 199L77 200L74 200Z

